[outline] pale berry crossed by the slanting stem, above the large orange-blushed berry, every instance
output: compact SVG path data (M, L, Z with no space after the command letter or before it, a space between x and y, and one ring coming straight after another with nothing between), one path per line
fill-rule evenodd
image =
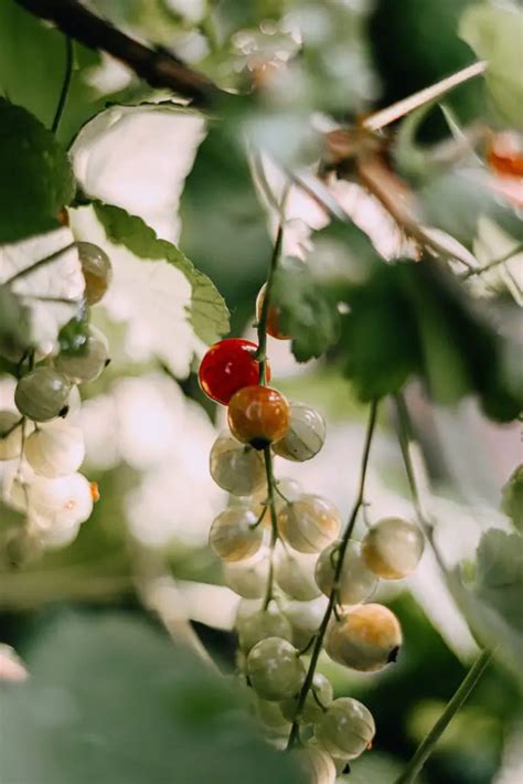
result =
M340 542L337 541L320 553L316 565L316 582L325 596L330 596L332 591L339 555ZM360 604L374 593L376 586L377 578L363 561L360 542L350 541L341 568L338 602L340 604Z

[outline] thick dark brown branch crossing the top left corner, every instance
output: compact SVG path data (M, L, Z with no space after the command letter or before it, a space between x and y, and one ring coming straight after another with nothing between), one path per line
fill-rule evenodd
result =
M135 41L95 15L75 0L17 0L26 11L53 22L63 33L89 49L120 60L151 87L172 89L193 104L210 106L231 98L203 74L192 71L164 51L154 51Z

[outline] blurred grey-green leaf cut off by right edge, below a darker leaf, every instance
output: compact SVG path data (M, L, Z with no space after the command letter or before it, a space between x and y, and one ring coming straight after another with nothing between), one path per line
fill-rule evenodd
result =
M523 537L491 528L478 547L477 597L523 633Z

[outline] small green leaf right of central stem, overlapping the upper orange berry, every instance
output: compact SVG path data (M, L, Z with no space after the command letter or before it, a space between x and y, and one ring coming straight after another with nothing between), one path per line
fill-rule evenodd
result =
M318 286L305 265L280 267L273 285L273 301L281 330L292 336L292 353L298 362L321 357L340 333L337 303Z

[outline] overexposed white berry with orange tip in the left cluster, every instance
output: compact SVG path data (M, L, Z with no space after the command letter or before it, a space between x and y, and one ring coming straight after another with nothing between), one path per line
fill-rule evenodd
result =
M35 476L28 486L28 513L41 530L78 526L92 511L93 489L82 474L56 479Z

